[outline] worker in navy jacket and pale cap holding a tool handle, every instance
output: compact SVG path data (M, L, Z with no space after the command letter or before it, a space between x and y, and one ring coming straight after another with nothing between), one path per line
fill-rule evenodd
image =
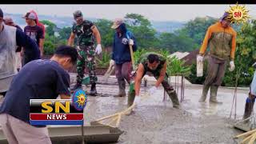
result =
M130 46L133 47L133 51L136 51L137 45L134 34L127 30L126 24L121 18L115 19L111 28L116 30L116 33L114 34L113 54L110 65L114 65L119 87L118 94L114 96L124 97L126 96L126 82L130 84L132 69L131 57L133 55L130 55Z

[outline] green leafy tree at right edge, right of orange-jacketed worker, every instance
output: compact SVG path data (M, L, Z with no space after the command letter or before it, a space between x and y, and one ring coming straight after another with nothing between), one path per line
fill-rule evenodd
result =
M254 75L252 65L256 61L256 20L242 25L238 31L237 48L233 72L226 70L224 86L234 86L238 77L238 86L249 86Z

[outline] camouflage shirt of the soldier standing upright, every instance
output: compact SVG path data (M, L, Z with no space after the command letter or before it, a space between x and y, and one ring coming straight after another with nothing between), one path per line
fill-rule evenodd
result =
M94 23L87 20L83 21L81 25L74 23L72 32L78 36L78 46L90 46L94 44L92 26L94 26Z

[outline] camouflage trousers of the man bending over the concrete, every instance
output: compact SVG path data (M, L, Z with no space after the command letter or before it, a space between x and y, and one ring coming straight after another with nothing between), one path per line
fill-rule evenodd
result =
M145 73L146 74L146 73ZM144 75L142 77L144 77ZM160 72L155 72L154 78L158 79ZM135 74L133 76L133 79L135 77ZM168 82L168 75L166 74L164 80L162 81L162 86L164 90L166 90L166 93L170 97L171 101L173 102L174 106L178 106L178 95L176 94L176 91L174 90L173 86L171 86ZM128 106L131 106L134 103L134 98L135 98L135 89L134 89L134 80L130 84L130 90L129 90L129 95L128 95Z

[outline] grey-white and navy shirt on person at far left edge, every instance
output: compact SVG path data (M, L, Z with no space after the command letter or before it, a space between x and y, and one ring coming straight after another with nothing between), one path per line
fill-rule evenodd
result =
M40 58L38 46L30 37L14 26L3 25L0 32L0 92L9 89L12 78L17 74L17 46L25 47L33 54L34 59Z

